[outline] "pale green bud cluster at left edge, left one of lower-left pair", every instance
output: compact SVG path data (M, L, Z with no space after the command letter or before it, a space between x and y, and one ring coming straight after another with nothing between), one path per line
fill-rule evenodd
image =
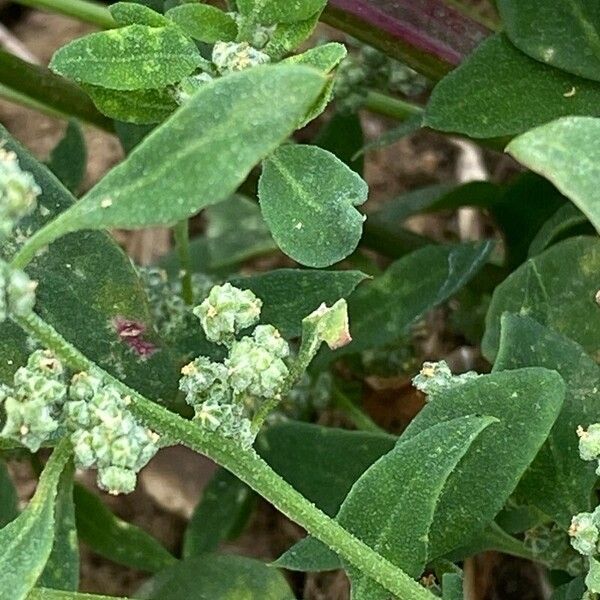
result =
M60 427L67 394L63 367L48 351L37 350L17 369L13 386L0 388L6 421L2 437L37 452Z

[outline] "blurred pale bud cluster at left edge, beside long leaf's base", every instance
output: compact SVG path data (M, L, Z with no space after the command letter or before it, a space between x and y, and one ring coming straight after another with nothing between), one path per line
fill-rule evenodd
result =
M0 148L0 237L35 209L41 193L33 175L21 170L17 155Z

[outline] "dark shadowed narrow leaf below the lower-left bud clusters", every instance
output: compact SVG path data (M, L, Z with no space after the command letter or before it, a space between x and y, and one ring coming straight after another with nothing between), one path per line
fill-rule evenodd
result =
M96 554L149 573L161 571L175 562L160 542L113 515L94 493L76 485L74 497L79 537Z

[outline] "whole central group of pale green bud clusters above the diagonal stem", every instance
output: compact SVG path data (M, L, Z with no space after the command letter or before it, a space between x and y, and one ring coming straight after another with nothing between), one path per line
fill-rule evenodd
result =
M249 290L229 283L215 286L194 314L206 337L225 345L229 354L222 363L198 357L182 369L179 383L201 427L219 430L244 447L254 442L250 417L265 404L279 402L289 378L289 346L275 327L258 325L251 335L236 338L256 325L261 306Z

